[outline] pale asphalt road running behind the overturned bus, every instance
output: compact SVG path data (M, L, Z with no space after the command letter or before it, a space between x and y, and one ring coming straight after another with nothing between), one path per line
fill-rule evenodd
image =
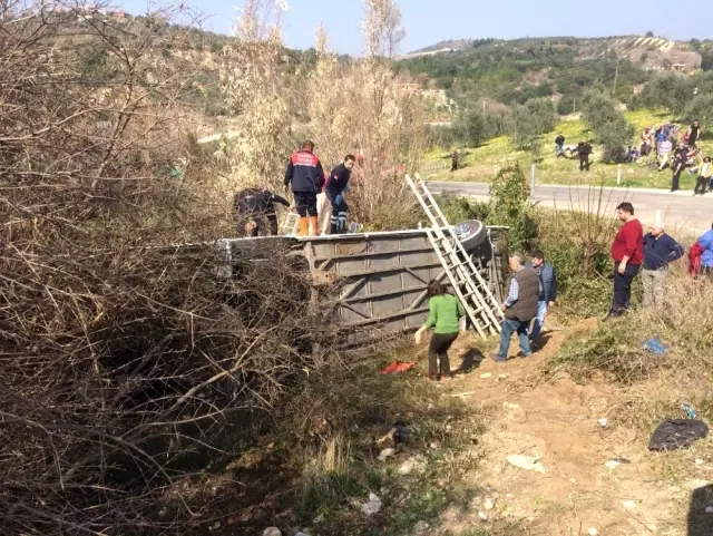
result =
M487 199L490 185L487 183L429 182L431 192L466 195ZM634 205L642 223L649 224L656 212L668 232L701 234L713 223L713 193L693 196L691 191L666 192L663 189L612 188L589 186L536 185L533 201L546 207L579 209L584 212L615 215L616 205L628 201ZM599 208L597 208L599 207Z

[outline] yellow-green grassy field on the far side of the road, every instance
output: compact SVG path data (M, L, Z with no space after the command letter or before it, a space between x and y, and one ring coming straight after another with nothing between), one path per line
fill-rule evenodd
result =
M663 111L626 111L626 118L637 128L637 137L647 125L658 125L665 123L671 117ZM705 126L704 126L705 128ZM566 158L555 158L555 137L557 133L565 136L565 145L576 145L580 139L592 137L584 121L579 119L563 120L555 131L546 134L543 139L541 160L537 164L537 182L540 184L599 184L608 186L616 185L617 165L604 164L599 162L600 150L594 147L594 155L589 158L592 170L589 173L579 172L579 162ZM636 144L639 145L638 138ZM704 139L700 144L704 152L713 155L713 135L704 131ZM497 169L517 162L529 168L531 155L529 152L515 150L509 136L486 142L477 148L461 148L460 165L462 169L449 173L448 169L434 175L439 181L470 181L489 182L497 173ZM437 162L450 162L448 152L433 149L426 156L427 165ZM446 157L446 158L445 158ZM623 187L637 188L668 188L671 187L671 170L657 172L646 167L643 160L636 164L622 165ZM687 170L681 176L681 187L693 189L695 177Z

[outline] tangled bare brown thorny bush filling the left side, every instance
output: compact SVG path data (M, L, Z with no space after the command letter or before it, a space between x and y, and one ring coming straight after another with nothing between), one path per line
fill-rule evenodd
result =
M205 534L189 461L311 366L306 281L170 245L226 225L165 173L195 72L162 17L65 8L0 3L0 534Z

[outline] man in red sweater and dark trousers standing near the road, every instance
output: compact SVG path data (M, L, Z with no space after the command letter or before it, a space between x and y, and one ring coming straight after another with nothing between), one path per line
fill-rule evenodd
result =
M621 316L628 309L632 298L632 280L638 273L644 260L644 228L634 216L634 206L624 202L616 207L616 215L624 222L612 244L614 259L614 300L606 319Z

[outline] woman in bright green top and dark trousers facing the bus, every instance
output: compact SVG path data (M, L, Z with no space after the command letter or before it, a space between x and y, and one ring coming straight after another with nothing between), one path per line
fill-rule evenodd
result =
M433 328L428 351L428 378L429 380L451 379L453 374L448 361L448 349L458 337L458 321L465 316L466 311L458 299L448 294L443 285L436 280L431 280L428 284L428 320L416 332L416 343L421 342L421 335L426 330ZM437 358L440 359L440 369Z

